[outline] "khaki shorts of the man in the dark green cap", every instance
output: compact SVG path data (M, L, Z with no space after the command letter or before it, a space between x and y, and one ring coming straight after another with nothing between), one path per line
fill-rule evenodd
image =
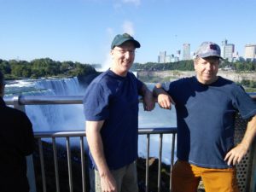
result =
M117 183L118 192L138 192L136 161L118 170L111 170ZM102 192L98 171L90 170L90 192Z

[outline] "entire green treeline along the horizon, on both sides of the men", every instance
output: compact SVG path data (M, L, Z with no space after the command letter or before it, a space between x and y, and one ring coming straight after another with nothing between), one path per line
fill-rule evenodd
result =
M95 74L96 66L83 64L73 61L53 61L49 58L35 59L32 61L4 61L0 59L0 70L4 73L6 79L31 78L38 79L42 77L81 77ZM234 70L235 72L256 70L256 63L253 61L221 62L220 68ZM145 64L134 63L132 71L166 71L180 70L193 71L194 63L189 61L177 61L170 63L148 62Z

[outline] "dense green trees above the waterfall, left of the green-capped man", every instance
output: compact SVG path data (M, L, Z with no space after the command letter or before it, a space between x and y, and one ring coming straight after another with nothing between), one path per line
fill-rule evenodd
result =
M0 59L0 71L5 79L38 79L42 77L78 77L96 73L93 66L73 61L53 61L49 58L33 61L4 61Z

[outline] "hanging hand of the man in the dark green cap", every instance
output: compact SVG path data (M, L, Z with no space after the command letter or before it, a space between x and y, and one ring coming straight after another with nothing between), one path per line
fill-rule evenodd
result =
M102 192L117 192L118 191L116 182L115 182L111 172L101 175L101 187L102 187Z

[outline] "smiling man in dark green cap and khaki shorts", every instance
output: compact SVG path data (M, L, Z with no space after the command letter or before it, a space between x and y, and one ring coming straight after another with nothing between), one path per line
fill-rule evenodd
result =
M138 191L138 96L143 96L145 110L154 108L152 92L129 72L135 49L140 46L127 33L115 36L110 51L112 66L96 77L85 92L91 191Z

